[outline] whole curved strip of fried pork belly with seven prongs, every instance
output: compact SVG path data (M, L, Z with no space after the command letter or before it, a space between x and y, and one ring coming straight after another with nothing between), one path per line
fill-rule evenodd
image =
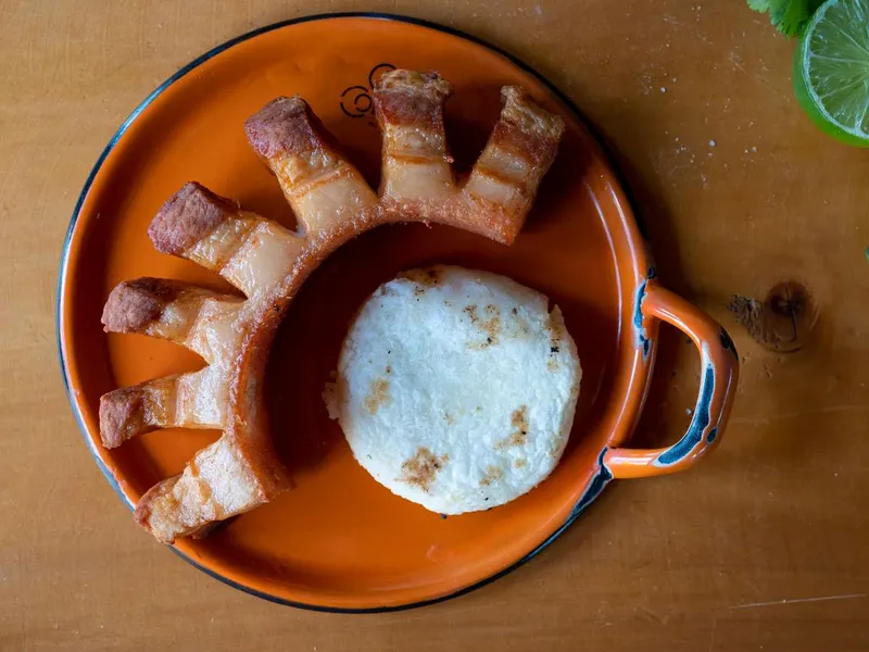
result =
M292 206L295 233L196 183L154 217L148 233L159 251L219 274L247 297L140 278L121 284L106 302L106 331L172 340L207 366L105 394L103 444L114 448L161 427L224 430L180 475L140 499L136 518L159 540L202 535L287 488L263 409L265 364L290 300L326 255L390 222L437 222L505 243L518 234L564 124L521 89L505 87L501 118L471 174L458 183L443 125L451 93L436 73L393 71L378 82L379 193L302 98L278 98L251 116L248 139Z

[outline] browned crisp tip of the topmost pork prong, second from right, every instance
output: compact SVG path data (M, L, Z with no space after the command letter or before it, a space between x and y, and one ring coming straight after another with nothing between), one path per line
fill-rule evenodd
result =
M438 73L392 71L375 84L374 101L382 125L432 127L443 124L443 102L453 87Z

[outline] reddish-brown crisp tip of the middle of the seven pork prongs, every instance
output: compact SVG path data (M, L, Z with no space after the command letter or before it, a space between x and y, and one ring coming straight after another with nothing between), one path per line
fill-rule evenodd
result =
M180 255L237 212L231 200L189 181L163 204L148 236L158 251Z

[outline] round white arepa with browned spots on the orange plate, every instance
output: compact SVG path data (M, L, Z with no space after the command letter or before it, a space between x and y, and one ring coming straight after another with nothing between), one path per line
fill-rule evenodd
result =
M504 504L552 473L581 375L546 297L496 274L437 266L365 302L324 398L378 482L461 514Z

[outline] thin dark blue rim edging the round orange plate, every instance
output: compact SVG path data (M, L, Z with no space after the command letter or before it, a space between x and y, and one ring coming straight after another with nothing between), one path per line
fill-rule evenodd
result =
M93 165L93 168L90 171L90 174L88 175L88 178L85 181L85 186L81 188L81 192L78 196L78 201L76 201L75 209L73 211L72 220L70 221L70 226L66 229L66 236L64 237L63 250L62 250L62 253L61 253L60 271L59 271L59 275L58 275L58 286L56 286L56 300L55 300L56 314L55 314L54 323L55 323L55 331L56 331L58 355L59 355L60 363L61 363L61 374L63 375L63 384L64 384L64 387L66 388L66 397L67 397L67 399L70 401L70 405L73 409L73 413L75 415L76 423L78 424L78 428L79 428L79 430L81 432L81 436L83 436L83 438L85 440L85 443L88 447L88 450L90 451L90 454L93 456L95 461L97 462L97 465L99 466L100 471L102 472L102 475L105 476L105 479L109 481L109 484L111 485L112 489L114 489L115 493L117 493L117 496L122 499L124 504L126 504L127 507L130 509L130 510L134 510L135 505L133 505L127 500L127 497L121 490L121 487L118 486L117 480L114 478L112 473L105 466L105 464L103 463L102 459L99 456L99 454L97 453L97 451L93 448L93 442L92 442L92 440L90 439L90 437L88 435L88 430L87 430L87 427L85 426L84 417L81 416L81 411L79 410L79 408L78 408L78 405L77 405L77 403L75 401L75 398L73 397L72 389L70 387L70 378L68 378L68 375L66 373L66 356L64 355L63 341L62 341L62 335L61 335L62 302L63 302L63 293L64 293L64 286L65 286L65 276L66 276L65 275L66 263L67 263L67 258L68 258L68 253L70 253L70 243L71 243L72 238L73 238L73 233L75 230L76 223L78 222L78 216L79 216L79 214L81 212L81 206L84 205L85 199L87 198L87 195L90 191L90 187L93 184L93 179L97 177L97 174L99 174L103 163L105 162L105 159L109 156L109 154L115 148L117 142L121 140L121 138L127 131L129 126L151 104L151 102L153 102L163 91L165 91L175 82L177 82L178 79L180 79L181 77L184 77L185 75L187 75L188 73L193 71L194 68L199 67L200 65L202 65L203 63L205 63L206 61L209 61L213 57L216 57L221 52L223 52L225 50L228 50L229 48L231 48L231 47L234 47L234 46L236 46L238 43L241 43L243 41L247 41L247 40L250 40L252 38L255 38L255 37L260 36L261 34L266 34L266 33L273 32L275 29L280 29L282 27L287 27L288 25L299 25L301 23L308 23L308 22L313 22L313 21L323 21L323 20L328 20L328 18L376 18L376 20L383 20L383 21L394 21L394 22L398 22L398 23L406 23L406 24L411 24L411 25L417 25L419 27L426 27L426 28L429 28L429 29L433 29L436 32L442 32L442 33L449 34L451 36L455 36L455 37L471 41L471 42L474 42L474 43L476 43L478 46L482 46L484 48L488 48L489 50L492 50L493 52L500 54L501 57L504 57L511 63L513 63L514 65L519 67L522 72L533 76L541 84L543 84L549 89L550 92L552 92L558 100L561 100L561 102L565 106L567 106L570 111L572 111L572 113L577 116L577 118L580 120L580 122L589 130L589 133L595 138L595 140L599 143L601 142L601 139L597 138L597 135L594 133L594 129L590 127L588 121L582 118L582 115L581 115L580 111L576 108L576 105L561 90L558 90L551 82L549 82L545 77L540 75L537 71L534 71L533 68L528 66L526 63L524 63L522 61L520 61L519 59L517 59L513 54L502 50L499 47L492 46L492 45L490 45L490 43L488 43L488 42L486 42L486 41L483 41L483 40L481 40L481 39L479 39L479 38L477 38L475 36L471 36L471 35L468 35L468 34L466 34L464 32L461 32L458 29L454 29L452 27L446 27L444 25L439 25L437 23L431 23L429 21L424 21L424 20L420 20L420 18L412 18L412 17L407 17L407 16L389 14L389 13L378 13L378 12L336 12L336 13L314 14L314 15L303 16L303 17L299 17L299 18L290 18L290 20L287 20L287 21L280 21L278 23L273 23L270 25L266 25L264 27L260 27L257 29L253 29L252 32L248 32L247 34L243 34L243 35L238 36L236 38L232 38L232 39L230 39L230 40L228 40L228 41L226 41L226 42L224 42L224 43L222 43L219 46L216 46L215 48L213 48L213 49L209 50L207 52L205 52L204 54L198 57L197 59L194 59L193 61L191 61L190 63L188 63L187 65L181 67L174 75L172 75L168 79L166 79L163 84L161 84L156 89L154 89L133 111L133 113L130 113L130 115L127 117L127 120L125 120L122 123L121 127L118 127L117 131L115 131L114 136L112 136L111 140L105 146L105 149L103 149L103 151L100 154L99 159L97 159L97 163ZM612 162L610 162L610 166L609 167L613 171L613 174L616 175L617 178L619 178L619 174L618 174L617 170L615 168L615 166L612 165ZM619 181L621 181L621 180L622 179L619 178ZM627 195L628 193L627 186L624 183L620 184L620 185L621 185L622 190ZM628 195L628 198L629 198L629 203L633 203L632 201L630 201L630 196L629 195ZM637 222L637 224L639 226L639 230L640 230L641 235L645 238L646 237L646 231L645 231L644 225L642 223L640 223L640 221L637 218L635 214L634 214L634 220L635 220L635 222ZM284 598L277 597L277 595L273 595L272 593L266 593L264 591L259 591L256 589L252 589L252 588L250 588L248 586L244 586L242 584L239 584L239 582L237 582L237 581L235 581L235 580L232 580L232 579L230 579L230 578L228 578L228 577L226 577L224 575L221 575L219 573L215 573L211 568L207 568L207 567L201 565L196 560L193 560L192 557L190 557L189 555L185 554L184 552L177 550L174 547L168 547L168 548L175 554L177 554L179 557L181 557L184 561L189 563L191 566L198 568L199 570L202 570L203 573L205 573L206 575L213 577L214 579L217 579L217 580L224 582L225 585L228 585L228 586L232 587L234 589L238 589L239 591L243 591L245 593L249 593L250 595L254 595L256 598L262 598L263 600L267 600L268 602L274 602L276 604L284 604L284 605L287 605L287 606L295 606L295 607L299 607L299 609L304 609L304 610L310 610L310 611L315 611L315 612L343 613L343 614L387 613L387 612L396 612L396 611L416 609L416 607L420 607L420 606L427 606L429 604L436 604L438 602L443 602L443 601L450 600L452 598L458 598L459 595L464 595L466 593L469 593L470 591L474 591L476 589L484 587L486 585L488 585L490 582L493 582L496 579L500 579L501 577L504 577L505 575L507 575L508 573L515 570L516 568L518 568L519 566L526 564L527 562L530 562L532 559L534 559L537 555L539 555L541 552L543 552L543 550L545 550L553 541L555 541L555 539L561 537L564 534L564 531L568 527L570 527L570 525L572 525L572 523L580 516L580 514L582 514L582 512L585 510L585 507L588 507L601 494L601 492L606 487L606 485L613 479L613 475L609 473L609 469L604 464L604 454L606 453L607 450L608 449L606 447L604 447L604 449L601 451L601 454L600 454L600 456L597 459L597 472L592 476L591 480L589 481L589 484L585 487L585 491L582 493L582 497L579 499L577 504L571 510L570 515L567 517L567 519L564 522L564 524L561 527L558 527L558 529L556 529L552 535L550 535L550 537L546 538L545 541L540 543L534 550L532 550L531 552L529 552L528 554L526 554L521 559L517 560L516 562L514 562L513 564L511 564L506 568L504 568L502 570L499 570L498 573L495 573L495 574L493 574L493 575L491 575L491 576L489 576L489 577L487 577L484 579L481 579L481 580L479 580L479 581L477 581L477 582L475 582L475 584L473 584L470 586L467 586L465 588L458 589L457 591L454 591L452 593L448 593L446 595L441 595L439 598L432 598L430 600L421 600L421 601L412 602L412 603L408 603L408 604L389 605L389 606L375 606L375 607L364 607L364 609L348 609L348 607L338 607L338 606L324 606L324 605L318 605L318 604L307 604L307 603L304 603L304 602L297 602L297 601L293 601L293 600L286 600Z

